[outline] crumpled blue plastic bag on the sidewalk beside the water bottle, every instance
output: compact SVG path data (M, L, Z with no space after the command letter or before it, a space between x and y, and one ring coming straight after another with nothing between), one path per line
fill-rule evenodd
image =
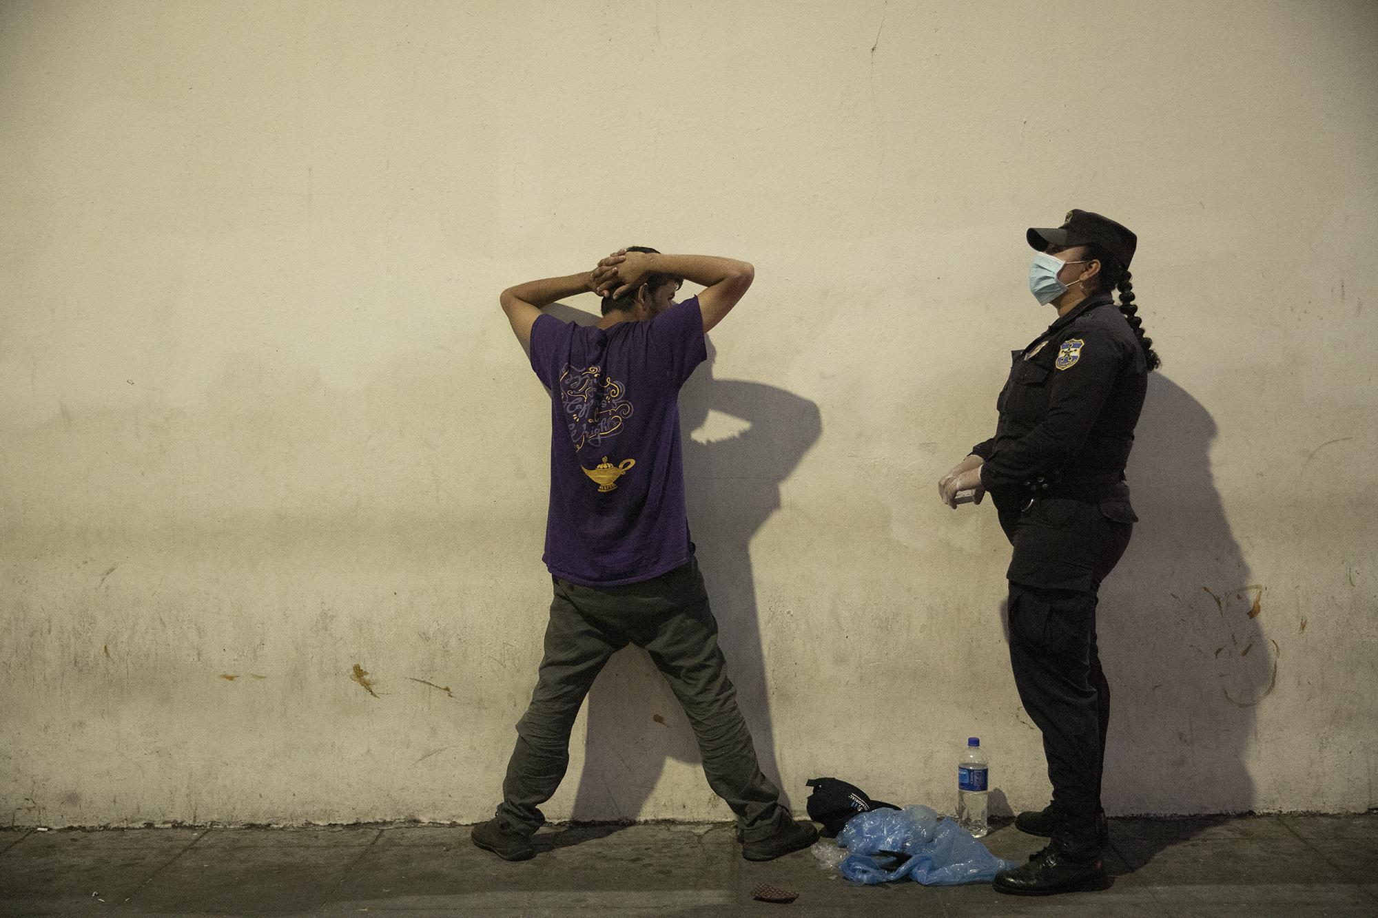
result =
M925 886L991 882L995 874L1016 866L927 806L857 813L838 833L838 845L847 849L838 870L852 882L867 885L907 877ZM887 870L872 857L881 852L904 860Z

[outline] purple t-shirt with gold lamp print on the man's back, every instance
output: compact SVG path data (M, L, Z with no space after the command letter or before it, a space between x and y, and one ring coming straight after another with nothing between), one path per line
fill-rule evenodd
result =
M697 296L606 329L548 314L532 325L531 367L551 402L551 573L619 586L689 561L679 387L707 357Z

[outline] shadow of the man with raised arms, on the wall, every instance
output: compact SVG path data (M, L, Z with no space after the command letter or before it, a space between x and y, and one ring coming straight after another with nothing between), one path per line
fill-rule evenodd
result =
M569 307L550 312L564 321L593 321ZM679 394L689 528L761 771L781 787L750 544L780 507L780 484L819 440L821 422L817 405L783 389L714 378L715 354L710 342L707 363ZM750 426L699 442L690 433L703 427L710 411ZM588 693L584 766L572 819L637 819L668 759L700 762L693 731L646 652L627 646ZM711 797L707 782L703 794Z

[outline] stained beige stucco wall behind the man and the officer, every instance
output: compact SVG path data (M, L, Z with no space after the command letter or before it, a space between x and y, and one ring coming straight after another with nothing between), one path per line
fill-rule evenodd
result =
M1072 207L1138 232L1164 360L1108 809L1372 806L1375 37L1371 3L0 6L0 820L489 813L550 589L497 291L630 243L757 266L683 405L768 772L943 809L980 735L996 809L1040 805L1007 547L934 482ZM726 817L696 755L626 652L547 813Z

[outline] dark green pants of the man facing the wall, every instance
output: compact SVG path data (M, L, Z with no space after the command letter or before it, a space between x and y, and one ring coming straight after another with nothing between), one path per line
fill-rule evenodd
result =
M689 715L708 786L736 813L743 841L758 841L791 819L780 791L761 773L737 691L723 673L699 564L620 587L553 580L546 655L531 706L517 724L497 817L525 833L546 822L537 806L554 795L569 766L569 733L584 696L608 659L635 644Z

